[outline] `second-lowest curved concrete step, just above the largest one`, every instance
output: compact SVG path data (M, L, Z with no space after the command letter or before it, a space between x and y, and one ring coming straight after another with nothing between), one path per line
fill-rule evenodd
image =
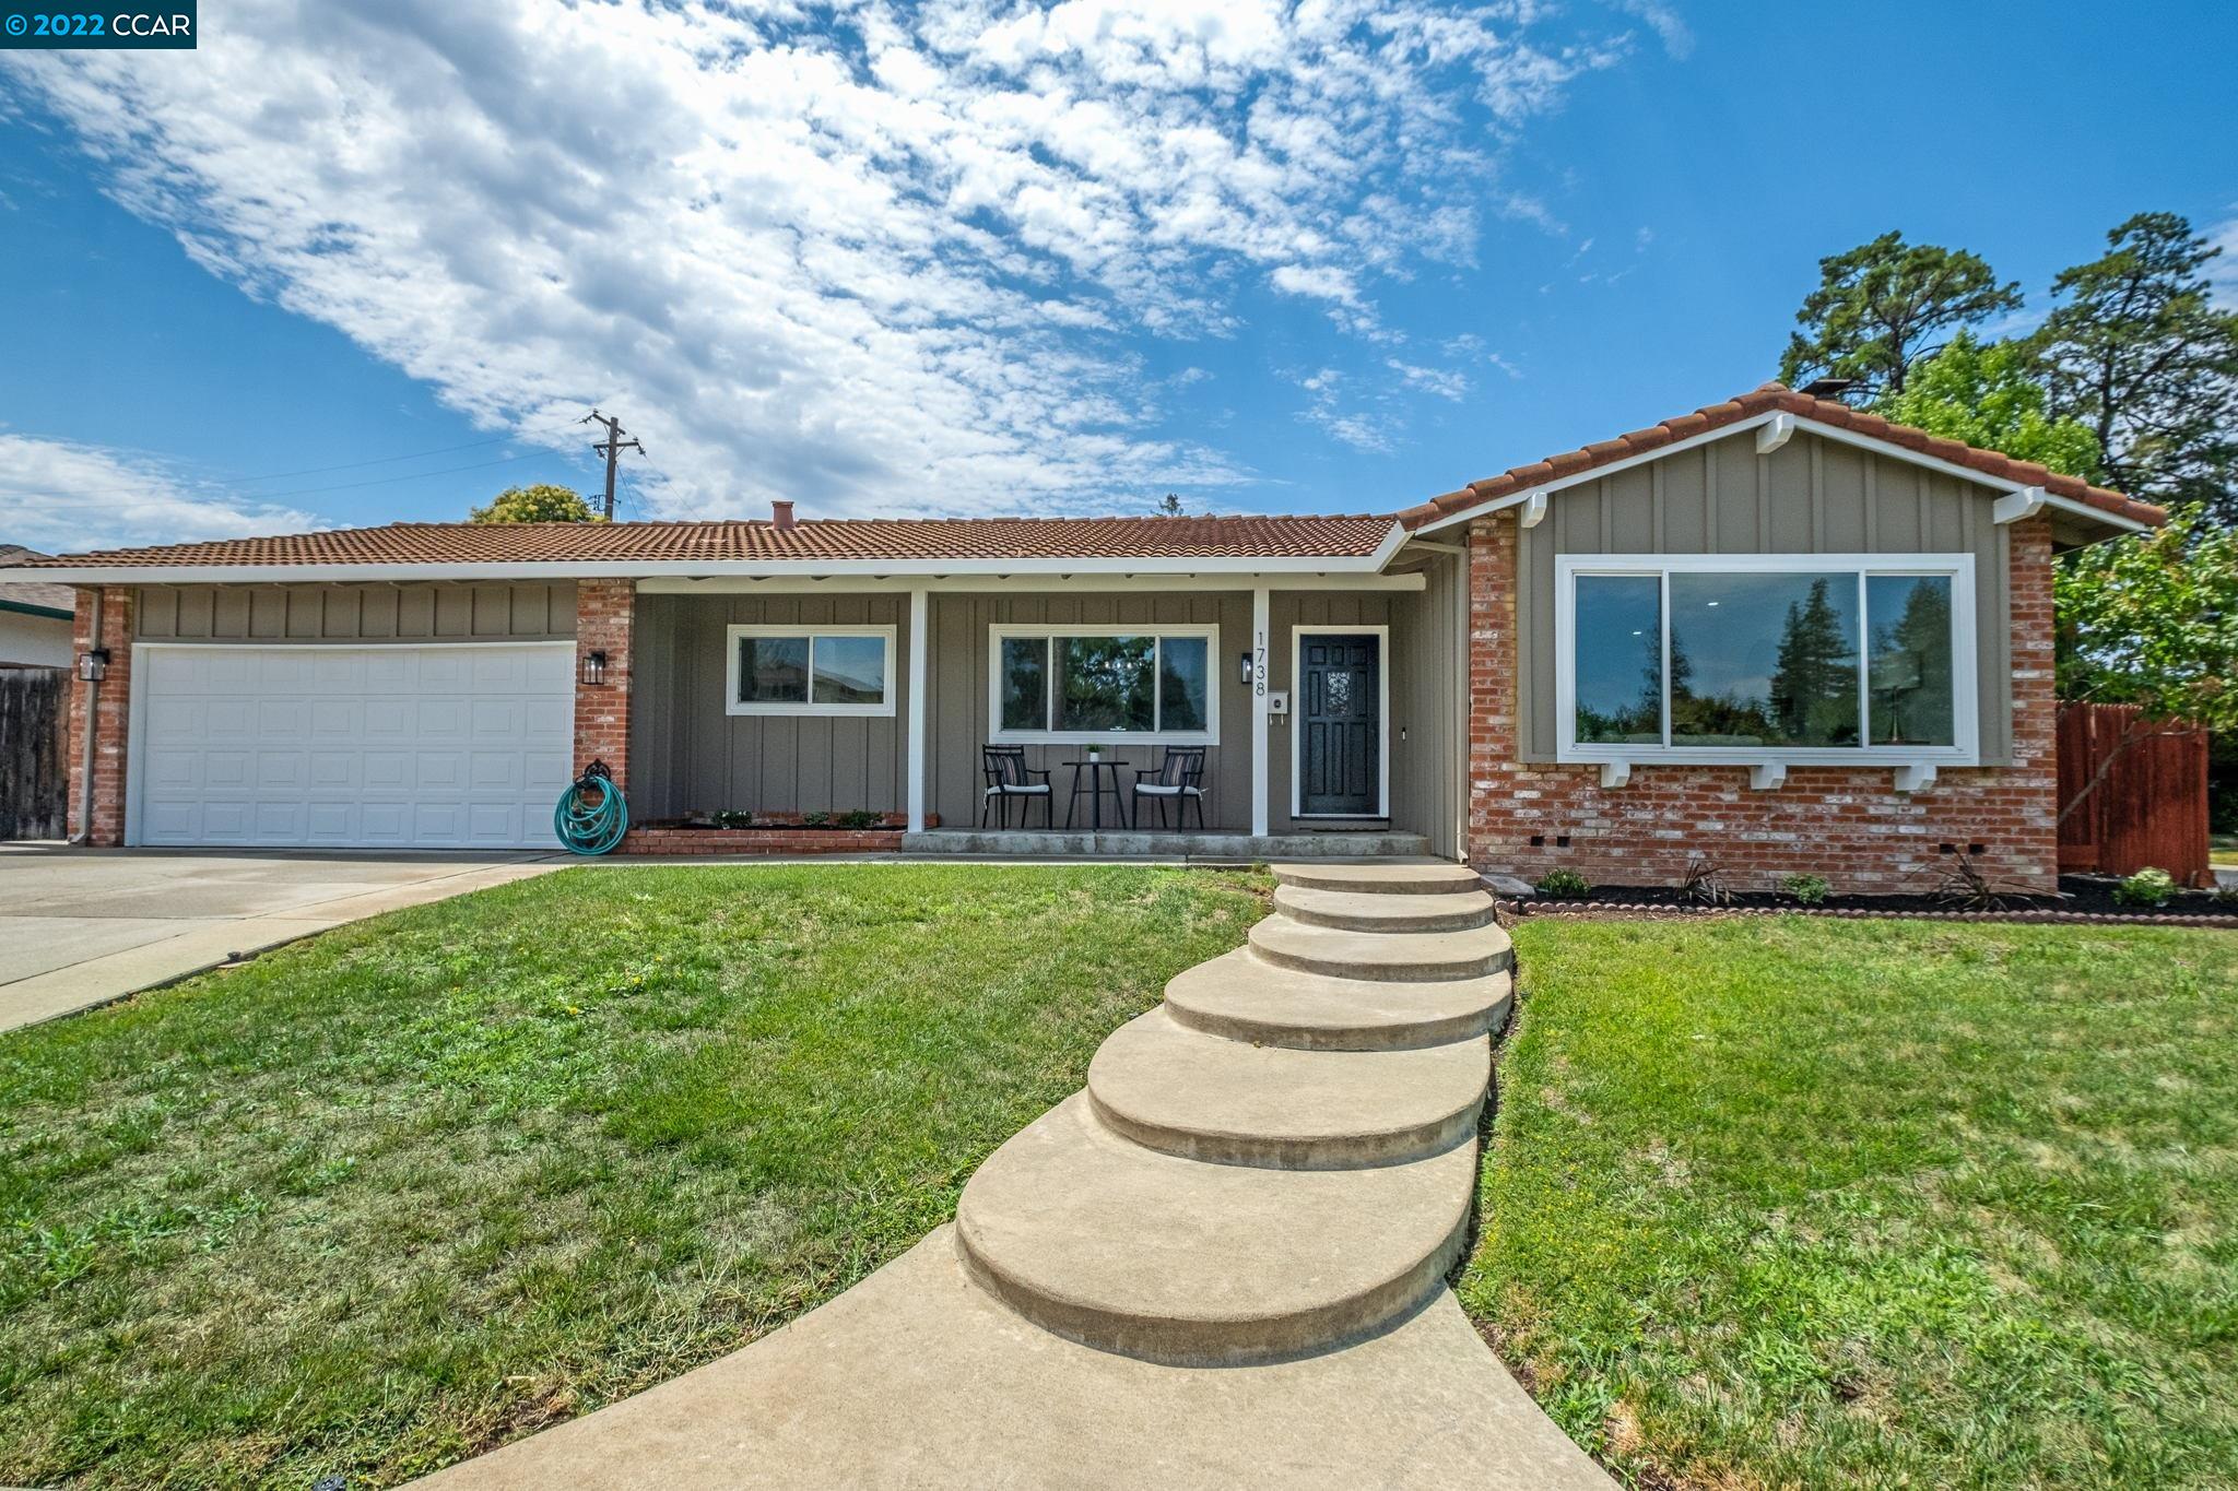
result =
M1356 1169L1466 1140L1491 1075L1482 1035L1410 1051L1285 1051L1150 1010L1097 1051L1088 1098L1115 1133L1188 1160Z

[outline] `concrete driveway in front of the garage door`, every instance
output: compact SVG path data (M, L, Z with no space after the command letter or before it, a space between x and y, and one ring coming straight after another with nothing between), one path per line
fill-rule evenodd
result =
M0 1031L566 863L566 854L501 852L0 845Z

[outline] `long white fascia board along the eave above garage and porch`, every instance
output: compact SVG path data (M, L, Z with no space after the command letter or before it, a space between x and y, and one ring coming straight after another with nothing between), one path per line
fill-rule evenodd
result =
M253 586L304 581L414 581L414 579L700 579L700 577L947 577L947 574L1374 574L1405 530L1392 523L1372 554L1244 554L1235 559L662 559L662 561L557 561L557 563L132 563L38 570L56 586ZM31 579L34 574L27 574Z

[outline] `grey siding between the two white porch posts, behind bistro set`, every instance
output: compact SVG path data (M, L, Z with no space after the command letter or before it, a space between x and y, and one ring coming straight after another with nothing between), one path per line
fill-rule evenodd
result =
M989 733L989 653L994 626L1112 626L1115 630L1150 630L1159 624L1217 626L1211 650L1213 697L1220 711L1220 744L1204 753L1204 823L1211 829L1251 829L1251 691L1238 682L1238 657L1251 646L1251 595L1173 592L1150 595L980 595L951 592L931 597L933 688L927 709L927 807L940 814L944 827L978 823L980 747ZM1056 787L1056 825L1065 823L1065 791L1079 760L1076 744L1032 744L1027 762L1050 769ZM1164 753L1159 747L1117 747L1117 760L1150 767ZM1126 780L1126 778L1121 778ZM1081 805L1085 823L1088 805ZM1103 805L1110 825L1110 800ZM1034 809L1041 827L1041 809ZM1191 814L1195 827L1195 814Z

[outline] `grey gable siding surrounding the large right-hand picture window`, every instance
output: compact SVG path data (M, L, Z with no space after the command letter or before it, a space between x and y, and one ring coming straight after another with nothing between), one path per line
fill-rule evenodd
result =
M1555 492L1522 530L1515 608L1522 758L1555 758L1558 554L1972 554L1981 760L2012 760L2007 532L1994 492L1891 456L1795 434L1759 456L1755 431Z

